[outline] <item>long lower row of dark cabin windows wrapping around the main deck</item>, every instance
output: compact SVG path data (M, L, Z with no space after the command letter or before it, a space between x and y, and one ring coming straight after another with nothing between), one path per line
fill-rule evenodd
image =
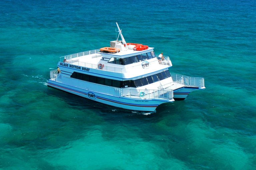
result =
M127 87L145 86L147 84L151 84L151 83L166 79L168 77L171 77L171 75L170 75L170 72L166 70L161 73L143 77L137 80L125 80L125 81L112 80L108 78L102 78L102 77L92 76L92 75L78 73L78 72L73 72L73 74L70 77L92 82L92 83L101 84L101 85L111 86L111 87L127 88Z

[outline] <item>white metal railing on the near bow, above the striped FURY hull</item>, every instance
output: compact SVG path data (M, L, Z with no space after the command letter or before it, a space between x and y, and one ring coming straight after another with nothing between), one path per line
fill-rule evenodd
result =
M123 88L121 93L123 97L128 97L128 98L173 100L173 91L167 90L167 89L135 90L135 89Z

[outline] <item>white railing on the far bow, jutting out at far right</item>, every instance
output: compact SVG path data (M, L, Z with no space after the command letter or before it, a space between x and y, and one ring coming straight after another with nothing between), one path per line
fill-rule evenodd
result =
M182 86L198 87L204 89L204 78L201 77L188 77L181 74L170 73L174 83L167 83L159 86L158 89L171 88L172 90L180 88ZM182 85L182 86L181 86Z

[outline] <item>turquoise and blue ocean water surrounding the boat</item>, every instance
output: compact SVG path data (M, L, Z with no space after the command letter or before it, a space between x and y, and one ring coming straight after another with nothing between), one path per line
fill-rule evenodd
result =
M115 22L206 89L147 113L47 87ZM0 169L256 169L255 0L2 0L0 61Z

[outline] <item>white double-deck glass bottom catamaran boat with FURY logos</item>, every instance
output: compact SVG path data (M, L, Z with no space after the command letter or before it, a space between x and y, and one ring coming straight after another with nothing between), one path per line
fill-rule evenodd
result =
M204 78L170 73L169 56L156 55L148 45L126 43L116 25L119 34L110 47L60 57L47 85L114 107L149 112L205 89Z

